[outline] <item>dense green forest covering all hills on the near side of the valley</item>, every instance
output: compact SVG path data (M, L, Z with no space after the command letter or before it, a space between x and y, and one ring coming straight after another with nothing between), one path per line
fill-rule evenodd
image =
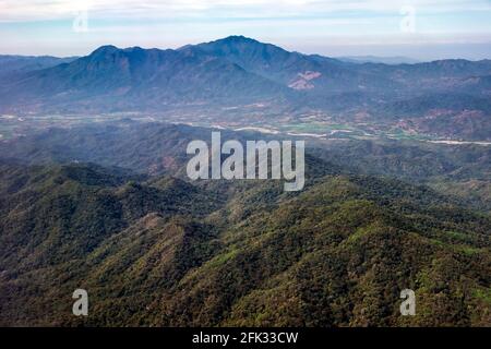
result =
M489 183L482 149L345 153L360 154L349 159L362 174L318 148L306 189L285 193L279 181L183 180L181 152L163 145L200 129L87 130L3 145L31 157L0 165L1 325L491 325L487 201L422 185ZM422 173L427 157L454 160ZM163 159L172 166L157 170ZM397 168L405 181L380 176ZM88 317L71 313L76 288ZM399 314L406 288L416 316Z

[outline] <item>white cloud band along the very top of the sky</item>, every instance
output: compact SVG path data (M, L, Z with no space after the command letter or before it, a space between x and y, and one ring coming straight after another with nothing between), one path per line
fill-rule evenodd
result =
M101 19L277 17L346 11L398 12L410 4L430 12L491 11L487 0L0 0L0 21L67 19L87 8Z

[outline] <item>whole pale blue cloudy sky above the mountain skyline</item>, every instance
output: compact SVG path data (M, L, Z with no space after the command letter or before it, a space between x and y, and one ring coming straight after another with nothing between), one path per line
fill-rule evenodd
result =
M491 58L491 0L0 0L0 53L244 35L326 56Z

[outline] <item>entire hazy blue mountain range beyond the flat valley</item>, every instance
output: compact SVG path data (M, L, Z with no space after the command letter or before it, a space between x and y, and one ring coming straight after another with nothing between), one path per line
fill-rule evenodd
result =
M481 101L491 96L489 76L491 60L349 63L230 36L177 50L103 46L55 67L17 70L9 79L0 76L0 112L176 109L202 115L204 109L224 113L228 107L261 105L267 118L322 111L343 122L363 113L366 121L394 125L396 119L415 117L411 112L423 117L450 107L450 115L466 111L489 119ZM435 99L429 100L430 95ZM443 95L447 97L436 98ZM459 101L442 105L451 98ZM404 108L392 111L392 106ZM442 122L423 129L447 135L440 133ZM491 130L487 122L480 125L479 134L455 134L482 140Z

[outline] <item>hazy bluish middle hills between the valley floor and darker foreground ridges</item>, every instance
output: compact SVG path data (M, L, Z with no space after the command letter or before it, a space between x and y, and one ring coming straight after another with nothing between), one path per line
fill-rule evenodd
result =
M224 140L242 143L289 139L288 135L252 131L219 131ZM187 144L192 140L209 142L209 136L211 130L206 128L131 120L52 128L0 142L0 159L15 159L25 165L94 163L141 174L185 179ZM331 173L385 176L429 184L442 193L455 193L466 205L491 212L489 146L446 146L395 140L309 140L307 146L307 159L323 159ZM322 173L323 168L312 165L310 170Z

